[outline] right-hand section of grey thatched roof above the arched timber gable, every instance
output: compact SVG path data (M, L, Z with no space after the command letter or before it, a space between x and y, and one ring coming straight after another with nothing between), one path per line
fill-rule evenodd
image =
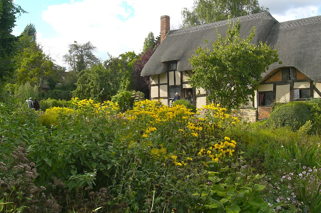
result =
M321 16L276 23L267 44L277 49L282 64L272 64L263 77L281 66L295 67L321 82Z

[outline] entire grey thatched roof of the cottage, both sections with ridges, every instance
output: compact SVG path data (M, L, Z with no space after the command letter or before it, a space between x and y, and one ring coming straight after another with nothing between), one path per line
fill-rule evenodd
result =
M255 26L254 43L267 42L278 50L282 65L275 63L262 75L280 66L293 66L314 81L321 81L321 17L278 23L268 12L232 19L240 20L240 36L248 37ZM141 76L167 72L164 62L178 61L177 70L192 70L189 59L198 47L212 48L216 29L225 35L227 21L170 31L141 72ZM205 43L208 41L208 44Z

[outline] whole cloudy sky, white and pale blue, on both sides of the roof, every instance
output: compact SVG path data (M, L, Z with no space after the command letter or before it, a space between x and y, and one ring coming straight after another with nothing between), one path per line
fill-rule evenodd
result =
M183 8L192 8L194 0L16 0L29 12L17 21L15 35L32 23L38 43L45 52L65 66L62 56L68 44L90 41L97 47L97 57L107 59L127 51L142 50L149 32L159 35L160 17L171 17L171 30L179 29ZM259 0L279 22L321 15L321 1Z

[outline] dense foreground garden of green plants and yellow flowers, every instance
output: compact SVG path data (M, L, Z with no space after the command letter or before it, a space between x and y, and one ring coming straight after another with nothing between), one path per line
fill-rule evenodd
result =
M195 114L144 100L122 113L75 98L43 112L8 95L0 212L319 212L311 104L311 122L291 130L213 104Z

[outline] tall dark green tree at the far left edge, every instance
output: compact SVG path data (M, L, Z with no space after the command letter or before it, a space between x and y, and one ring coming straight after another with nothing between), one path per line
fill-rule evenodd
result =
M13 0L0 0L0 82L14 73L13 57L17 53L18 38L12 35L16 14L24 13Z

